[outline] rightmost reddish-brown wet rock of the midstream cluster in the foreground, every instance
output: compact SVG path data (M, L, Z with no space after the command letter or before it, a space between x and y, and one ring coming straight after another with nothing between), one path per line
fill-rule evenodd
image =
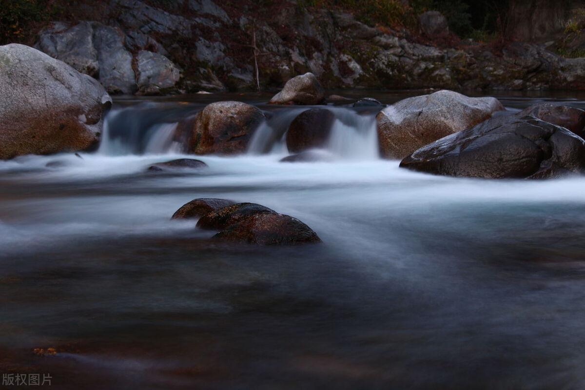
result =
M214 239L260 245L319 243L319 236L307 225L288 215L262 213L248 216L215 234Z

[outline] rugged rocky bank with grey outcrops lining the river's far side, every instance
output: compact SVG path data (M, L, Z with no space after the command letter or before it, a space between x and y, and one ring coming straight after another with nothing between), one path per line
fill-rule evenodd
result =
M585 89L585 58L536 43L439 44L429 36L448 32L432 15L421 18L419 39L294 1L222 8L211 0L112 0L86 8L81 21L42 30L36 47L111 94L276 89L306 72L326 88ZM83 20L92 15L99 20Z

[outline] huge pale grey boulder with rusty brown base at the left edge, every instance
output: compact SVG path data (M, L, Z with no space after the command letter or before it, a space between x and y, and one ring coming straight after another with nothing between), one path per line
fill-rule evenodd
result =
M97 80L39 50L0 46L0 158L96 146L112 99Z

